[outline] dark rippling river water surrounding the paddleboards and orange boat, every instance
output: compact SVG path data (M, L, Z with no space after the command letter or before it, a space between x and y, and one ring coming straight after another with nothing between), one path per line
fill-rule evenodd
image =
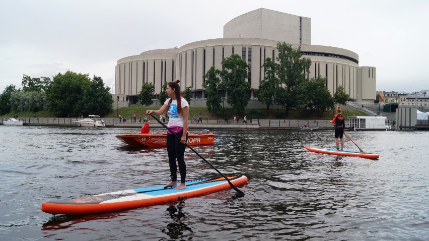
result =
M133 149L115 138L138 129L0 126L1 240L427 240L429 132L348 132L380 159L335 157L332 131L211 130L195 147L239 189L183 202L66 216L40 210L75 198L163 185L164 148ZM161 129L153 129L161 132ZM192 131L192 130L191 130ZM345 140L347 150L358 148ZM188 179L217 176L192 151Z

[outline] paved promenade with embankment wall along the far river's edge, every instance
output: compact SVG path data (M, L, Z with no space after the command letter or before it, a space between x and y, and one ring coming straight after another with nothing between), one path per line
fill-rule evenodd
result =
M24 121L24 126L68 126L75 127L76 118L20 118ZM3 124L4 118L1 118ZM136 122L119 122L118 118L103 118L106 127L141 128L143 121L137 119ZM155 119L151 120L151 128L162 128ZM189 122L191 129L290 129L296 130L307 125L309 128L319 127L319 130L333 130L330 120L309 120L309 119L249 119L247 123L240 120L239 123L225 122L224 119L202 119L201 122Z

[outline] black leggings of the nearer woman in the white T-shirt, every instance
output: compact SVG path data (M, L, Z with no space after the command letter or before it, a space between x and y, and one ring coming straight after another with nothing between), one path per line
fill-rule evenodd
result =
M183 130L177 133L177 136L182 137ZM188 133L186 132L186 141L188 140ZM170 164L170 177L173 182L177 181L177 163L179 163L180 171L180 182L185 183L186 180L186 164L184 159L185 154L185 144L180 143L180 138L177 138L176 135L167 135L167 153L168 153L168 162Z

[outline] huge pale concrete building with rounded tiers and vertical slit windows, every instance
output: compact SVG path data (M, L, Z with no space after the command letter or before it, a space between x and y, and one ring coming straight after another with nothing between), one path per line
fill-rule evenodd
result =
M277 42L301 45L301 52L312 61L308 78L327 78L326 87L333 93L343 86L355 101L376 99L376 68L359 67L359 55L343 48L311 45L311 19L267 9L257 9L229 21L224 36L201 40L176 48L156 49L117 61L115 94L137 102L142 83L153 83L155 93L165 82L178 78L181 88L192 88L194 98L205 98L203 75L215 66L222 69L222 60L240 54L250 66L251 97L264 79L263 61L278 55ZM221 92L223 97L227 95Z

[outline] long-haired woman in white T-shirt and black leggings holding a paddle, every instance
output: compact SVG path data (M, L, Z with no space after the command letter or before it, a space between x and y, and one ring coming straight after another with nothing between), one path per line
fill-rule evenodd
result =
M177 159L180 171L180 185L176 187L177 190L186 188L186 164L183 156L185 154L185 143L188 139L187 130L189 116L189 103L182 97L179 83L180 80L168 83L165 92L169 98L159 110L146 111L146 114L154 115L161 115L167 112L168 129L180 137L177 138L176 135L170 133L170 131L167 134L167 153L170 164L171 182L164 186L164 188L173 188L177 186ZM185 135L183 135L183 133L185 133Z

